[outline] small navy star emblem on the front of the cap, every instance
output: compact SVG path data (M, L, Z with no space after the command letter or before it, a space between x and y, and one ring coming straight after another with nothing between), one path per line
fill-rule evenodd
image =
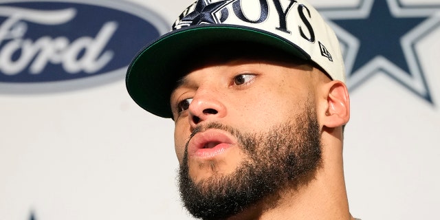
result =
M236 1L236 0L232 0ZM232 3L230 0L217 1L210 3L208 0L199 0L195 5L194 11L187 14L181 23L190 23L189 25L199 25L201 23L221 23L221 21L227 18L227 14L224 14L220 19L215 16L215 13L223 9L225 5Z

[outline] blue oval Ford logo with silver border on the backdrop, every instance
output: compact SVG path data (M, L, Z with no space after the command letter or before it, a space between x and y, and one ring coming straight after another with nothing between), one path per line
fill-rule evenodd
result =
M3 1L0 91L78 89L122 79L168 25L126 1Z

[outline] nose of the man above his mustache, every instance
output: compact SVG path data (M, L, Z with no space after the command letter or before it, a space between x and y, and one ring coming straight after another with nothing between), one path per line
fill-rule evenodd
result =
M193 129L203 121L218 120L226 115L225 105L220 98L219 94L210 90L197 91L188 108L188 120Z

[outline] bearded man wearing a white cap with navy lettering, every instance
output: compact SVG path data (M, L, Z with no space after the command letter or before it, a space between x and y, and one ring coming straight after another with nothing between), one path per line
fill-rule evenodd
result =
M353 219L342 55L309 3L196 1L137 54L126 85L175 121L179 190L194 217Z

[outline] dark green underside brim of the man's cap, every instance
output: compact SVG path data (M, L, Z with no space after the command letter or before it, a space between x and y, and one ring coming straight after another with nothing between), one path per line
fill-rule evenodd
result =
M195 47L244 41L274 47L298 58L310 56L296 45L270 32L239 25L195 25L169 32L135 56L126 74L126 88L140 107L163 118L172 118L170 96L184 74L179 67Z

